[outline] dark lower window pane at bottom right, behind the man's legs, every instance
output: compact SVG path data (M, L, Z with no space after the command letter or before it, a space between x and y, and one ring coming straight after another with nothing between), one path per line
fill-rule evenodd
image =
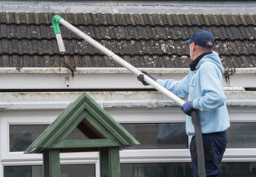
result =
M121 164L121 177L192 177L191 163ZM221 177L256 176L256 162L225 162Z

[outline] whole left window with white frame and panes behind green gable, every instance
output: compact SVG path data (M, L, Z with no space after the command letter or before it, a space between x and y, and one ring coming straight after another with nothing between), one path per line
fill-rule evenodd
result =
M0 117L0 177L42 177L42 155L24 154L24 150L50 125L60 114L60 110L22 110L3 111ZM27 131L30 141L15 143L24 138ZM22 135L22 136L21 136ZM31 139L32 137L32 139ZM67 139L87 139L75 129ZM26 140L26 139L23 139ZM22 142L22 141L21 141ZM12 147L12 148L10 148ZM99 176L98 152L61 153L61 177ZM81 173L80 173L81 171ZM85 175L84 175L85 174Z

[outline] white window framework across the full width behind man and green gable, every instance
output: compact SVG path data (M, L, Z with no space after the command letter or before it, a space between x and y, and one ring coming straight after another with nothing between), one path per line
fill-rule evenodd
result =
M10 152L10 125L50 124L63 111L42 108L7 110L0 112L0 177L4 176L4 166L42 165L40 154ZM119 123L180 123L185 115L179 107L166 108L106 108L106 111ZM244 116L246 114L246 116ZM255 108L229 108L231 122L256 122ZM188 136L190 139L192 137ZM121 150L121 163L161 163L191 162L187 149ZM256 148L228 148L223 162L256 162ZM95 176L100 176L98 153L61 153L61 164L95 164Z

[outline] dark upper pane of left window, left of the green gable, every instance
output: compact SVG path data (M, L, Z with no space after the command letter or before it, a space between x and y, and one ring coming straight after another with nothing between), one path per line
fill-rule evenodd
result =
M48 125L10 125L10 152L25 151Z

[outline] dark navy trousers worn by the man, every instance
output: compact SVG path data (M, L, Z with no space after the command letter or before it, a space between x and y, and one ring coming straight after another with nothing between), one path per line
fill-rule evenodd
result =
M226 131L203 134L203 149L206 165L206 176L220 176L220 162L226 150ZM198 177L198 159L195 146L195 136L189 145L192 159L193 177Z

